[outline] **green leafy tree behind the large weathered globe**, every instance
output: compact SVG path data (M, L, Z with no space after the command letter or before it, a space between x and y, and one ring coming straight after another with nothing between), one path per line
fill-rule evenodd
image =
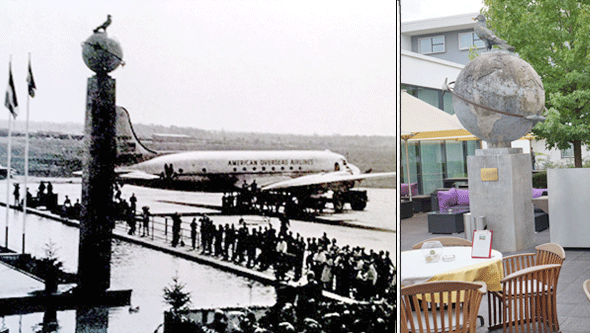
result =
M590 5L575 0L484 0L488 27L516 47L545 88L547 120L533 128L548 149L590 145Z

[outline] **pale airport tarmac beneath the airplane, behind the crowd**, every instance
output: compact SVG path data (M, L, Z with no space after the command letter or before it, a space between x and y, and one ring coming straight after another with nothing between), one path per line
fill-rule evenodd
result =
M58 194L59 204L63 203L66 195L68 195L72 203L75 203L81 197L80 178L29 177L28 188L31 194L36 195L41 180L51 181L54 193ZM17 176L16 181L21 182L22 177ZM23 188L22 185L21 188ZM0 181L0 201L5 202L6 191L2 189L6 189L5 180ZM221 197L223 196L222 193L170 191L133 185L123 186L121 193L121 197L124 199L129 199L132 194L135 194L138 211L142 206L149 206L152 214L179 213L185 215L218 213L217 210L195 207L194 204L220 206ZM12 195L12 189L10 194ZM364 211L347 210L341 214L327 213L322 215L323 219L334 223L336 223L335 221L341 221L343 225L291 220L291 230L294 233L300 233L303 237L321 237L323 232L326 232L329 238L336 238L342 245L363 246L375 251L389 251L392 258L394 258L396 253L395 189L369 188L367 189L367 195L369 201ZM10 197L10 202L13 203L13 201L13 198ZM175 204L173 202L187 204ZM215 215L212 216L212 220L215 224L229 223L231 225L234 223L237 226L240 217L243 217L251 225L263 225L270 222L276 229L280 226L277 218L256 215ZM183 225L188 228L192 217L184 216L182 220ZM21 232L22 223L20 221L11 221L11 224L14 224L15 230ZM355 228L355 226L358 228ZM0 236L2 236L0 240L3 240L2 225L0 225ZM19 245L15 243L15 246Z

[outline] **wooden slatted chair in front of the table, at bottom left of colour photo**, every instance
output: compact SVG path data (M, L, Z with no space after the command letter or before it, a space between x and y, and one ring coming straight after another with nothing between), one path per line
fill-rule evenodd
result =
M472 332L481 304L480 284L437 281L401 288L401 332Z

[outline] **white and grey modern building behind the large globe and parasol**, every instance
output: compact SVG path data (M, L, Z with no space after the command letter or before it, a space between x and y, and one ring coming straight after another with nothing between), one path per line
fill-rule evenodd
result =
M455 81L471 56L485 51L485 46L473 31L479 13L434 18L401 24L401 89L430 105L454 114L452 97L444 94L445 79ZM403 105L402 105L403 108ZM513 147L521 147L536 154L536 169L547 165L573 163L573 151L545 149L545 140L517 140ZM475 149L486 148L476 141L409 141L408 152L411 182L417 182L419 193L429 194L443 187L443 179L466 177L466 160ZM402 142L401 182L406 183L405 146ZM582 157L590 152L582 149Z

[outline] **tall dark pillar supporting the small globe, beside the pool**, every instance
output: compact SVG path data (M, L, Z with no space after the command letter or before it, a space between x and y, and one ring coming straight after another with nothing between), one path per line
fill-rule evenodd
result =
M110 287L115 119L115 80L97 74L88 79L78 255L78 292L91 298Z

